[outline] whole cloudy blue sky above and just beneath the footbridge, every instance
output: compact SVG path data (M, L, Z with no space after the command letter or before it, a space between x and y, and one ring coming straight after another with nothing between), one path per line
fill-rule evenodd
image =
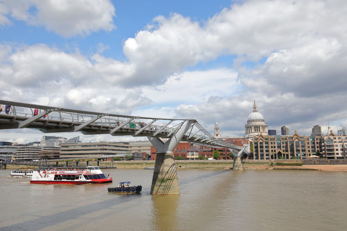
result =
M244 135L347 126L345 0L0 0L0 99L113 114L195 118ZM0 130L31 142L33 129ZM82 141L138 137L51 134Z

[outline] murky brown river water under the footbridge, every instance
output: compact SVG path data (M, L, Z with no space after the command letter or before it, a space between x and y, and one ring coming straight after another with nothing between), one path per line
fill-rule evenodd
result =
M103 169L113 183L30 184L0 170L0 230L347 230L347 173L178 169L181 194L153 196L153 170ZM108 193L119 181L140 195Z

